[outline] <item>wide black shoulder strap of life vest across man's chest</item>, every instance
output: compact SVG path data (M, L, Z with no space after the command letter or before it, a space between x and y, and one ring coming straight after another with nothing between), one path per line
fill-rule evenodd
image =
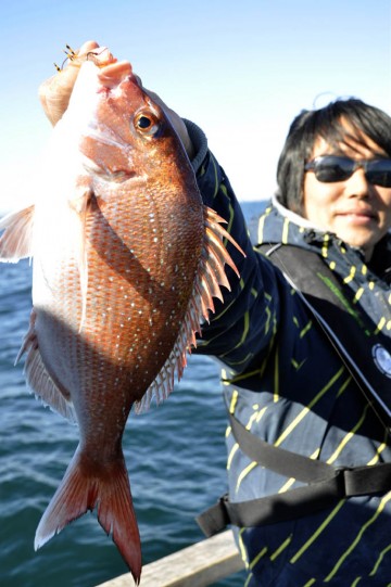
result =
M374 324L364 315L358 317L356 314L356 319L352 318L352 305L343 301L341 284L318 255L300 246L280 243L272 247L261 245L257 248L282 271L287 281L298 291L357 387L390 432L391 375L379 369L374 360L375 349L381 347L381 333L369 334ZM361 327L358 320L362 322ZM363 328L364 320L367 322L367 332ZM386 344L386 348L387 346Z

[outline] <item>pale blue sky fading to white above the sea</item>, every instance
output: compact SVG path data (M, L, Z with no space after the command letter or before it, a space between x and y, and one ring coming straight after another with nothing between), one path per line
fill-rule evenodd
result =
M65 43L128 59L203 128L240 200L274 191L302 109L355 95L391 113L391 0L14 0L0 28L0 209L28 193L50 133L37 90Z

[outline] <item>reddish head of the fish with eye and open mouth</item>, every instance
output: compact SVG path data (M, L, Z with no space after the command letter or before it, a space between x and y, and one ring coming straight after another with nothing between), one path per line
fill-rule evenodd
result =
M155 176L152 168L172 177L190 167L168 115L142 88L128 61L104 67L86 62L77 84L91 94L80 97L75 86L73 100L92 105L79 140L84 166L92 176L111 183L147 181Z

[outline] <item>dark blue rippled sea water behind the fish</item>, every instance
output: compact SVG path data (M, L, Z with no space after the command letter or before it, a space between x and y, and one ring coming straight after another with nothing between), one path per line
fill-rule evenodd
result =
M250 221L263 203L243 205ZM30 311L31 268L0 264L0 584L94 587L127 572L116 547L88 513L38 552L35 531L76 449L77 428L27 391L14 367ZM143 564L203 539L194 516L225 493L226 414L219 370L192 356L171 397L130 413L124 454ZM239 573L214 584L243 584Z

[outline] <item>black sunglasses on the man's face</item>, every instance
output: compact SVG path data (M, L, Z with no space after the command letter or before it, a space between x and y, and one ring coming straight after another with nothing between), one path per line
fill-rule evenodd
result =
M314 171L318 181L333 183L349 179L362 167L369 183L391 188L391 158L355 161L338 155L321 155L310 161L305 171Z

